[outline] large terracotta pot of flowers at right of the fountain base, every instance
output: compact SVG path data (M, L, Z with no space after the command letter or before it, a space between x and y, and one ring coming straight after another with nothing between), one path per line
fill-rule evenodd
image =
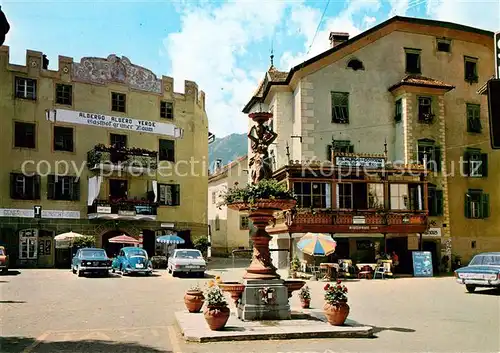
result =
M347 305L347 287L342 281L330 285L327 283L325 290L325 312L326 319L331 325L342 326L349 315L349 305Z

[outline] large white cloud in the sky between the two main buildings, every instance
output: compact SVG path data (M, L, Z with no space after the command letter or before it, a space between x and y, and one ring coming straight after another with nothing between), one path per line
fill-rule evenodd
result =
M193 80L207 94L210 131L218 136L243 132L247 117L241 113L263 77L268 61L243 66L239 60L254 55L252 44L270 43L275 27L288 6L284 1L252 1L218 4L218 7L180 7L181 30L171 33L164 46L172 64L176 91L183 80Z

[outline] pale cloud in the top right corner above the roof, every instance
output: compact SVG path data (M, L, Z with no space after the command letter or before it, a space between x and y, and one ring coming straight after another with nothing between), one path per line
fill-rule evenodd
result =
M498 0L427 0L427 14L436 20L498 31L500 1Z

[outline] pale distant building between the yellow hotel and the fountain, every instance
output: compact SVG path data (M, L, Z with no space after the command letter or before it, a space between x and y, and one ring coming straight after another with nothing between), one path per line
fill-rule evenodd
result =
M212 255L230 255L234 249L248 249L251 224L245 214L219 206L221 196L248 180L248 158L240 157L225 165L217 166L208 177L208 224Z

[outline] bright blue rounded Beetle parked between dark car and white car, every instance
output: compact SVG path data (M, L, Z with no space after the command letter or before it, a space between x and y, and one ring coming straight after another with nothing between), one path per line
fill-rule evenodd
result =
M122 274L153 273L153 264L148 258L148 253L142 248L126 247L120 250L118 256L113 260L112 271L121 271Z

